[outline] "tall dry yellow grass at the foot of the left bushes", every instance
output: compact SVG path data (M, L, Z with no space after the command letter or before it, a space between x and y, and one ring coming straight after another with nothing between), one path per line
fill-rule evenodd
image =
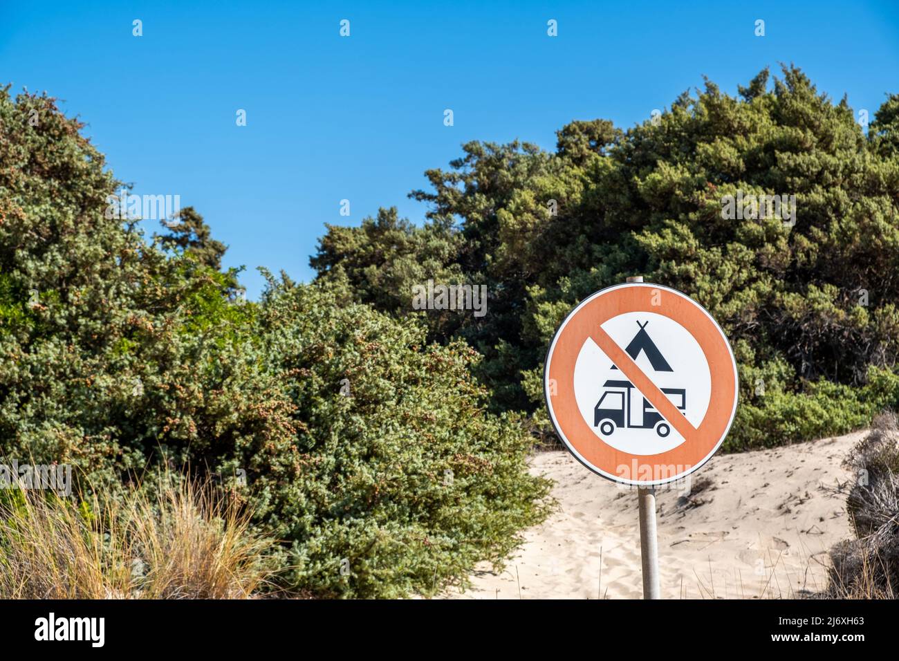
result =
M4 492L0 599L232 599L271 571L272 541L234 499L209 485L164 480L99 505L38 491Z

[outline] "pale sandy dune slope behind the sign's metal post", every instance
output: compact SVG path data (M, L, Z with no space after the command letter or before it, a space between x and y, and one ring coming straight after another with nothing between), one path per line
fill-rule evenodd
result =
M657 495L664 598L798 596L826 585L827 550L850 536L844 500L830 489L863 433L766 451L719 454L684 489ZM476 599L640 598L636 490L593 475L565 451L536 455L531 470L556 482L558 509L526 532L501 574L489 565ZM705 488L703 488L705 486Z

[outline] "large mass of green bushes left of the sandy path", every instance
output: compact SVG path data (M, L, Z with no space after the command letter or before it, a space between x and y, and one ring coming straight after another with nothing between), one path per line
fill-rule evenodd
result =
M281 585L314 595L431 593L539 521L529 436L485 412L470 347L324 287L242 302L199 214L152 240L106 218L117 182L82 125L7 90L0 456L72 464L101 501L164 466L220 476L280 540Z

